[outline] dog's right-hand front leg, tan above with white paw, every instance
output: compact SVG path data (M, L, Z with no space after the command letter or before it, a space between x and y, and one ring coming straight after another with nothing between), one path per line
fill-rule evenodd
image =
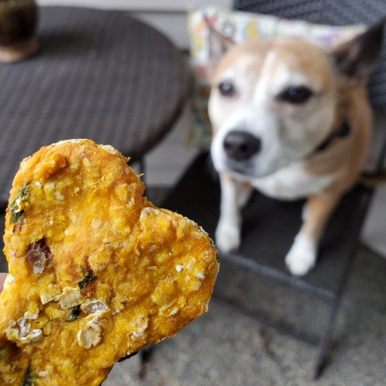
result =
M317 262L319 241L340 194L318 194L308 199L303 225L286 255L286 265L295 276L307 274Z

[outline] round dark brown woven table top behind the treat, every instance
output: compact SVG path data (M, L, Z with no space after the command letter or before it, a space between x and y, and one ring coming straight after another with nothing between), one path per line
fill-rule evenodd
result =
M20 161L69 138L140 159L168 132L185 99L180 52L143 22L112 11L39 10L40 50L0 64L0 203Z

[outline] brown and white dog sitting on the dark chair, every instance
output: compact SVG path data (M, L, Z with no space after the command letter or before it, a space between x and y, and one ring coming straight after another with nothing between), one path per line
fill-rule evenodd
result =
M221 183L220 251L239 248L240 210L255 188L277 199L307 198L286 265L296 276L314 267L326 222L368 151L366 84L383 21L332 52L298 38L248 41L226 53L214 44L208 110Z

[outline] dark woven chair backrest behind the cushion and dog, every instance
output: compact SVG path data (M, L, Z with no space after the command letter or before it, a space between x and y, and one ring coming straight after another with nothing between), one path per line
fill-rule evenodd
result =
M386 15L385 0L234 0L239 11L267 13L329 25L371 25ZM386 30L386 29L385 29ZM369 82L375 109L386 109L386 32L378 65Z

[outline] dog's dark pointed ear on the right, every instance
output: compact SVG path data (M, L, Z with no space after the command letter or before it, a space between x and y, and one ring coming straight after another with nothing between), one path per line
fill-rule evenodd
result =
M361 81L371 73L382 49L386 17L332 52L338 72L352 81Z

